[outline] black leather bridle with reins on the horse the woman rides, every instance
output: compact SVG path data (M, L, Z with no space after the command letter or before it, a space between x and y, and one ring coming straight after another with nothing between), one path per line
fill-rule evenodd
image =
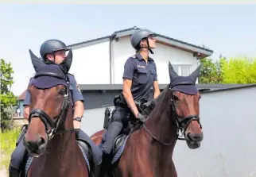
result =
M169 90L171 90L171 102L170 106L172 106L173 113L176 118L176 125L177 125L177 131L176 131L176 140L186 140L185 137L185 131L188 128L188 125L190 124L191 121L197 121L200 125L200 129L202 129L202 125L200 123L200 116L199 115L188 115L187 117L180 117L178 114L176 114L176 109L175 109L175 102L174 102L174 95L173 92L173 87L180 86L180 85L195 85L193 83L187 83L187 82L182 82L182 83L176 83L176 84L169 84ZM172 113L171 113L172 114ZM170 115L172 117L172 115ZM171 145L173 143L165 143L162 142L161 140L158 140L157 137L154 137L152 133L149 132L149 129L146 129L145 124L143 124L144 129L146 130L147 133L150 134L153 139L157 140L159 143L164 144L164 145ZM181 133L181 135L180 135ZM182 137L184 136L184 137Z

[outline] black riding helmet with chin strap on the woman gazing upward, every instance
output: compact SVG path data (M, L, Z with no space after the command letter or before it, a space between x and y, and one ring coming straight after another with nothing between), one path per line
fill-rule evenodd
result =
M151 48L149 48L148 37L150 36L156 37L157 35L156 33L153 33L152 31L150 31L149 29L138 29L130 37L130 43L135 49L139 50L141 48L140 47L141 40L146 39L146 42L148 44L147 48L149 49L149 52L153 54L153 51L151 50Z

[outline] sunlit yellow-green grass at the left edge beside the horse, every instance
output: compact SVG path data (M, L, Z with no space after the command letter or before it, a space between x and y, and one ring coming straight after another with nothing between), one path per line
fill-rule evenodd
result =
M1 163L0 168L8 169L10 164L10 155L14 152L16 148L17 137L21 133L21 129L11 129L6 131L1 131L0 135L0 146L1 146Z

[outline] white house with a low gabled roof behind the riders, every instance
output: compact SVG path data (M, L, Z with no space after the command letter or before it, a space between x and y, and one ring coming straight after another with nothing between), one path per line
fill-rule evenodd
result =
M79 84L121 84L123 66L134 55L130 36L136 26L116 31L110 36L87 40L68 47L73 49L70 72ZM211 50L194 44L157 34L157 48L152 58L157 65L158 82L169 82L168 62L180 75L189 75L197 67L197 61L211 56Z

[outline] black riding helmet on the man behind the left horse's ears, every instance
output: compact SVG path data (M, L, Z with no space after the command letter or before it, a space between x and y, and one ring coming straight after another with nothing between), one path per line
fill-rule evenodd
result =
M68 51L69 48L67 48L66 44L64 44L64 42L60 40L46 40L43 44L41 44L40 54L42 59L45 62L48 62L46 58L46 54L54 55L54 52L57 52L60 50ZM55 60L55 56L54 56L54 60Z

